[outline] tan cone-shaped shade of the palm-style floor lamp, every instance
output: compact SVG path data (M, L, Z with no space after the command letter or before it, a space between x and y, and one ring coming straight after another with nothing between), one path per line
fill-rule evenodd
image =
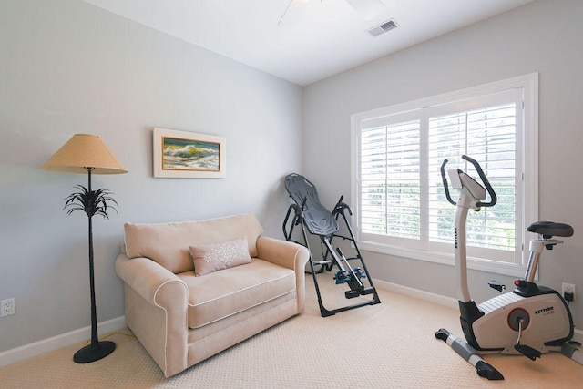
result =
M66 173L121 174L128 170L97 135L76 134L41 169Z

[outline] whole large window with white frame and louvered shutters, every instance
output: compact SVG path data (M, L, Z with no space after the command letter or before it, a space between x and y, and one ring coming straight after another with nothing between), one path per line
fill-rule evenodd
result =
M524 275L527 223L537 220L537 74L355 114L352 128L363 249L453 264L455 207L439 169L448 159L446 169L476 177L466 154L498 198L468 216L468 266Z

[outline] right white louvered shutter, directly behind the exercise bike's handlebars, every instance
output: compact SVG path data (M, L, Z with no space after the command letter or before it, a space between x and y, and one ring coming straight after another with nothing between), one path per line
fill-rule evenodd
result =
M439 174L445 169L460 168L478 177L473 166L460 156L466 154L480 162L496 192L495 207L470 212L466 223L468 255L487 258L484 249L496 250L498 261L514 261L517 249L517 101L509 90L486 97L428 108L429 241L432 250L454 240L455 207L449 206ZM477 179L480 182L480 179ZM457 193L452 192L457 200ZM489 199L488 199L489 200Z

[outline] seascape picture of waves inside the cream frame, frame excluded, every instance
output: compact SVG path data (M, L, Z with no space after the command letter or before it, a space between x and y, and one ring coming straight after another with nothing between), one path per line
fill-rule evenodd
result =
M162 169L220 170L220 144L190 139L163 138Z

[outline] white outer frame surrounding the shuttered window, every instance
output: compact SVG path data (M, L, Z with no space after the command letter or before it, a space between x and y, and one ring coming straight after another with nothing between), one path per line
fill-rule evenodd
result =
M517 193L522 193L521 199L517 199L517 220L521 220L518 226L516 240L518 241L514 262L500 262L485 259L468 257L467 266L469 269L479 271L489 271L511 276L524 276L528 261L528 240L531 239L527 232L527 226L538 220L538 73L531 73L520 77L513 77L494 83L469 87L455 92L445 93L434 97L425 97L418 100L396 104L389 107L381 107L365 112L353 114L351 116L351 195L353 199L353 225L356 238L360 248L367 251L381 252L398 257L404 257L420 261L431 261L446 265L455 265L454 249L452 244L451 253L438 253L414 248L403 247L394 244L387 244L379 241L363 241L363 234L360 228L360 129L363 122L370 123L371 120L382 122L384 117L389 117L397 113L414 111L419 108L433 107L454 101L463 101L468 98L486 96L496 92L503 92L509 89L517 90L523 97L523 107L517 107L517 174L522 176L522 187L517 188ZM522 108L522 109L520 109ZM522 112L522 115L520 115ZM522 128L518 128L522 121ZM471 156L470 156L471 157ZM520 163L522 166L520 166ZM448 167L453 169L455 167ZM454 193L452 193L454 195ZM451 206L448 203L444 207ZM452 226L453 228L453 226Z

